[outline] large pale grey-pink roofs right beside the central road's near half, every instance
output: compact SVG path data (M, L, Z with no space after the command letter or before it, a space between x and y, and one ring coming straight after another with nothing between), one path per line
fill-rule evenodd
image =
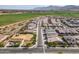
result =
M60 37L58 37L58 33L54 29L52 29L52 27L45 28L44 34L44 39L46 39L47 42L63 42L63 40Z

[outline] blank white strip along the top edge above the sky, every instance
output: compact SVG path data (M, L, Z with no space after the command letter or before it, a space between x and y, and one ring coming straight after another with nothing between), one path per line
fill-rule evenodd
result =
M79 5L79 0L0 0L1 5Z

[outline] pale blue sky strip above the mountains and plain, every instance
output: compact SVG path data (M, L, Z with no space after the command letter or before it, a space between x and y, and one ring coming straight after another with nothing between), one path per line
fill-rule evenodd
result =
M48 7L48 6L68 6L68 5L0 5L0 9L32 10L37 7ZM74 5L74 6L79 6L79 5Z

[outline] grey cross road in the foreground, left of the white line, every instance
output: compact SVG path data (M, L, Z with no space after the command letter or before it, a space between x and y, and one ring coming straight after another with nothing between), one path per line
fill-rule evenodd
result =
M43 53L42 48L31 48L31 49L0 49L0 53Z

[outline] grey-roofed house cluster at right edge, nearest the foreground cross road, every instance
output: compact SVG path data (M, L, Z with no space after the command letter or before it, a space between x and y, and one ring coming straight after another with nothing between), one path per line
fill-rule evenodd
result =
M64 36L63 40L71 47L78 46L79 35L78 36Z

